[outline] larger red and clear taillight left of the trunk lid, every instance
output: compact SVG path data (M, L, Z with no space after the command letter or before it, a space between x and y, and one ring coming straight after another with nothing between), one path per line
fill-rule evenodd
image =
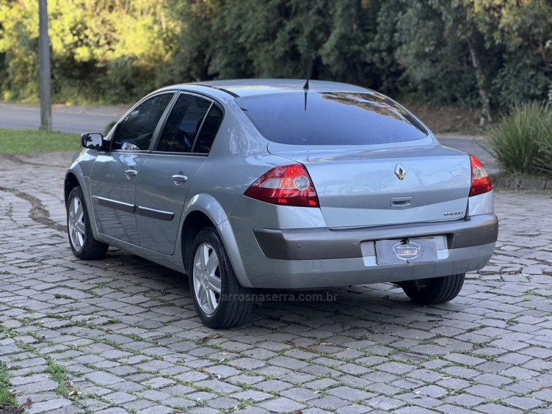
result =
M244 195L281 206L319 206L311 177L302 164L273 168L251 184Z

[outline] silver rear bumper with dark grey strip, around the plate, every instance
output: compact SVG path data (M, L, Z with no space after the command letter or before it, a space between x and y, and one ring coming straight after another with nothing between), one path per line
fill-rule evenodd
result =
M261 251L244 259L250 286L317 288L402 282L466 273L493 255L497 217L477 215L455 221L333 230L254 229ZM437 260L378 264L375 241L434 237Z

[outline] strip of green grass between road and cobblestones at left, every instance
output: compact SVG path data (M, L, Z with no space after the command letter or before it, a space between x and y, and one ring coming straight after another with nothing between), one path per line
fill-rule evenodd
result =
M43 130L0 129L0 153L78 150L79 135Z

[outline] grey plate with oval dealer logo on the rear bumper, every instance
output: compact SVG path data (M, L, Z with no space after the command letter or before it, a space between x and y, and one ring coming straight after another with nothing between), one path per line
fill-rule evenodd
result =
M435 262L435 239L379 240L375 242L377 264Z

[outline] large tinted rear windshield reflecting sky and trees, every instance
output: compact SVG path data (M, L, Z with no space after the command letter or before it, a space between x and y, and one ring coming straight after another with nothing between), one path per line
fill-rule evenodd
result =
M262 135L282 144L388 144L427 136L404 108L377 93L298 91L236 102Z

